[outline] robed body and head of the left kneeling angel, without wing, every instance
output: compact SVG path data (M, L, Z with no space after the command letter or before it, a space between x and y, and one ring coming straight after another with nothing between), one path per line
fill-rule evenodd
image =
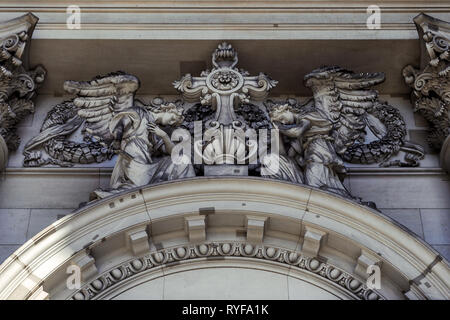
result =
M195 176L192 164L174 163L174 143L158 126L179 125L182 121L183 116L173 103L149 110L133 106L115 115L109 128L120 151L111 176L111 190L96 190L95 195L103 198L124 189ZM164 156L155 161L158 153Z

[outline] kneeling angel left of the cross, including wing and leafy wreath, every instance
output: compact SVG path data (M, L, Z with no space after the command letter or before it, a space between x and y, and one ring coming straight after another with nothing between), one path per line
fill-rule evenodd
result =
M194 176L192 165L174 164L170 157L174 143L162 126L183 122L182 109L175 103L159 101L150 105L135 101L139 80L115 72L91 81L66 81L64 89L77 97L53 108L41 133L25 146L25 163L70 165L102 162L118 154L111 177L111 189L96 190L103 198L125 189L159 181ZM158 101L157 101L158 102ZM84 142L67 137L84 125ZM43 160L43 147L52 158ZM155 156L162 155L155 161Z

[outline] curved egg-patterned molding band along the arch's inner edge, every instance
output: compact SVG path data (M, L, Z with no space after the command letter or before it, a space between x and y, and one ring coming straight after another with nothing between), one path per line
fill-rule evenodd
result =
M170 267L171 264L179 261L213 257L244 257L287 264L330 280L340 286L341 290L349 291L354 298L363 300L384 299L379 293L367 288L364 283L351 274L331 264L321 262L316 258L303 256L297 251L274 246L253 245L246 242L212 242L160 250L128 261L113 270L105 272L73 294L70 299L96 299L116 284L127 281L130 277L151 270L152 268L162 265Z

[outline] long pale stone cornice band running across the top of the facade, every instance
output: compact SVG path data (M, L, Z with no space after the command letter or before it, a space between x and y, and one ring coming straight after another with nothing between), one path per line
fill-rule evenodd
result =
M70 1L27 4L3 3L0 17L35 12L37 39L416 39L417 13L450 16L439 1L379 1L382 29L369 30L371 1L79 1L82 27L69 30Z

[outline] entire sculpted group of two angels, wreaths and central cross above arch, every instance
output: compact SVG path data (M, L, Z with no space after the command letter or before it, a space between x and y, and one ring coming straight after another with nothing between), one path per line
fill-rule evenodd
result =
M313 97L300 103L267 99L277 81L237 64L236 50L219 44L212 69L173 83L182 100L172 102L136 99L139 80L125 72L66 81L76 97L49 112L25 146L24 165L100 163L118 154L110 188L96 190L92 200L201 175L262 176L354 199L343 184L345 162L418 166L424 156L405 140L399 111L372 89L383 73L316 69L304 79ZM84 141L71 141L79 128ZM366 141L367 130L374 141ZM405 161L391 161L400 151Z

